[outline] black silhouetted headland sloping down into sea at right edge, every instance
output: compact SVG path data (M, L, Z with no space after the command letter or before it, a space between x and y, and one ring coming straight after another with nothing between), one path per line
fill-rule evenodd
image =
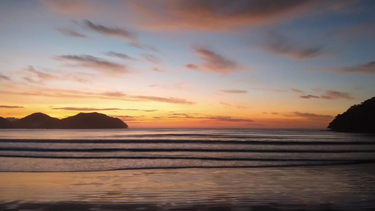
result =
M339 114L327 128L339 132L375 133L375 97L351 106Z

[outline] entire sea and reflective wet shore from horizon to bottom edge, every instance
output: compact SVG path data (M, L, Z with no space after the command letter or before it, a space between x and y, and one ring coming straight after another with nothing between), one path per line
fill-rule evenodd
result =
M375 136L0 131L0 210L374 210Z

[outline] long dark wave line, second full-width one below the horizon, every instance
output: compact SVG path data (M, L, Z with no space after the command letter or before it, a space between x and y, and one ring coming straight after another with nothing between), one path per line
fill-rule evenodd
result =
M90 148L90 149L56 149L56 148L0 148L0 151L31 151L31 152L264 152L264 153L357 153L375 152L375 150L314 150L314 149L187 149L187 148Z

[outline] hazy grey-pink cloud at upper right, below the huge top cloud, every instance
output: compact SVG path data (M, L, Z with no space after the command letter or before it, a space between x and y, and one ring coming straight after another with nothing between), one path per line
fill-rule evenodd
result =
M267 43L263 45L263 49L273 54L290 57L291 59L314 59L325 53L322 47L317 45L296 44L286 36L277 32L269 34Z

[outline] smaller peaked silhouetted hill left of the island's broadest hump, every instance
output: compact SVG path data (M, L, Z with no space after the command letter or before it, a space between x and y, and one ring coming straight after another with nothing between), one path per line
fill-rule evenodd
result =
M13 122L14 128L25 129L53 129L58 128L60 119L50 117L43 113L33 113Z

